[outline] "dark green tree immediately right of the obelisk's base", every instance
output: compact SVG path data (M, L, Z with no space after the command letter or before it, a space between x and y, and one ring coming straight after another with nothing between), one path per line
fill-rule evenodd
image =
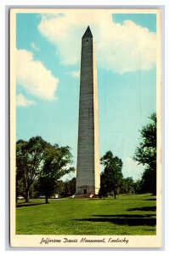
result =
M100 159L100 163L105 166L104 172L101 174L101 184L99 195L105 196L113 191L115 199L118 189L122 183L122 160L117 156L113 156L111 151L107 151Z

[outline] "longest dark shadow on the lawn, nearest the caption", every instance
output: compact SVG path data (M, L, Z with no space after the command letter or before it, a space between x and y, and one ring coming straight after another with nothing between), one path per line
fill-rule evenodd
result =
M147 215L147 214L146 214ZM149 214L150 215L150 214ZM96 216L96 215L94 215ZM97 215L105 218L76 218L75 221L89 221L89 222L109 222L118 225L128 226L156 226L156 218L148 218L145 215ZM142 216L142 218L141 218ZM109 217L109 218L108 218Z

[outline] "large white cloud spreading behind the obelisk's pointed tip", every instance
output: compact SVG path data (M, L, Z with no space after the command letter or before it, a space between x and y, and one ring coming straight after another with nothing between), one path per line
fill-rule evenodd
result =
M156 33L132 20L115 23L111 10L42 15L38 29L54 44L61 63L74 65L80 62L81 38L88 25L94 34L99 67L125 73L150 70L156 65Z

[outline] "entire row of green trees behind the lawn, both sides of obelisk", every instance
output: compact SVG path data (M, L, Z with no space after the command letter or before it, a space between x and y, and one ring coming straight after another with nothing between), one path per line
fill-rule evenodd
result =
M100 159L104 172L100 175L99 197L119 194L139 194L150 192L156 195L156 113L149 117L150 123L144 125L140 132L139 147L133 160L144 165L141 179L123 177L122 160L114 156L111 150ZM69 146L59 147L50 144L42 137L31 137L29 141L18 140L16 143L16 202L19 195L24 195L26 202L31 197L45 196L45 202L54 194L60 196L74 195L76 177L65 182L65 174L75 172L72 165Z

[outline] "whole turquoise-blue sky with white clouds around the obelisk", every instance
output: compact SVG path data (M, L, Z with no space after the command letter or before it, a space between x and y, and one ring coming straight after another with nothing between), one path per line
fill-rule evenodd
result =
M144 167L132 158L139 130L156 111L154 14L17 14L16 137L69 145L77 165L81 39L88 25L96 44L100 156L111 150L122 158L124 177L138 179Z

